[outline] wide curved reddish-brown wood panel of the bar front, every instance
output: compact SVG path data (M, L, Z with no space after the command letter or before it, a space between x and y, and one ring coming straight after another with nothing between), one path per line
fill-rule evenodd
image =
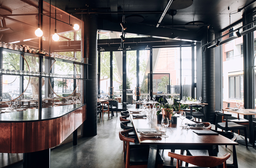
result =
M62 142L61 134L61 118L11 123L11 153L27 153L52 148Z

